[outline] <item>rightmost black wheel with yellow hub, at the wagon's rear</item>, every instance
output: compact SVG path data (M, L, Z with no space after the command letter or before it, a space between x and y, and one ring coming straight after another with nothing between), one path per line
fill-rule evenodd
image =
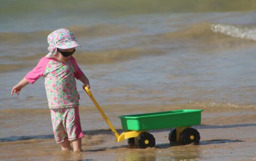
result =
M195 128L185 128L180 134L180 141L182 144L199 143L200 134Z

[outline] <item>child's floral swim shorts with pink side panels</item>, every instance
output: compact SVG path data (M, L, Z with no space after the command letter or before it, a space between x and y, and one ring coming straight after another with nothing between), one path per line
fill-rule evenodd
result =
M57 143L65 139L75 140L82 138L78 107L51 109L52 128Z

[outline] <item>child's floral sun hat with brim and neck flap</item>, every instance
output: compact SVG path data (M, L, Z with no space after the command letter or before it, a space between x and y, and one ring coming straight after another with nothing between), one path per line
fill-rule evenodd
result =
M70 49L80 46L76 42L74 34L67 29L58 29L53 31L47 36L47 41L49 44L49 53L45 56L46 58L53 58L57 54L57 48Z

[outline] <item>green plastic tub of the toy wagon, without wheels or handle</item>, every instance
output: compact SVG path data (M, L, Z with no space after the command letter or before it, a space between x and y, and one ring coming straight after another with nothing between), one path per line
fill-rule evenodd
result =
M201 124L201 109L184 109L119 116L127 131L147 131Z

